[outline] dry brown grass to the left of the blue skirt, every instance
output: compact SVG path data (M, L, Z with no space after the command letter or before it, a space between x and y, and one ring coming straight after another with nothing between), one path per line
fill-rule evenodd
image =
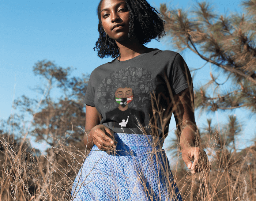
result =
M86 156L81 143L74 148L59 141L37 157L25 139L2 135L0 142L1 201L71 199L72 183Z

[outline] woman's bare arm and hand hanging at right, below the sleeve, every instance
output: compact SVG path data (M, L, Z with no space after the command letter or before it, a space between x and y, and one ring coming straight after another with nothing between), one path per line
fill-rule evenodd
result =
M192 173L208 166L206 153L198 147L200 135L197 130L194 113L194 93L188 88L174 96L174 118L180 134L182 159ZM193 163L192 163L193 161Z

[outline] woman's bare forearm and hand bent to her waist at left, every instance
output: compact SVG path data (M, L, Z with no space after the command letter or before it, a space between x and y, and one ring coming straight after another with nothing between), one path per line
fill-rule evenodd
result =
M95 107L86 105L85 113L85 131L83 143L86 149L93 148L97 145L100 150L108 151L116 148L116 140L113 138L113 132L106 126L100 125L102 117Z

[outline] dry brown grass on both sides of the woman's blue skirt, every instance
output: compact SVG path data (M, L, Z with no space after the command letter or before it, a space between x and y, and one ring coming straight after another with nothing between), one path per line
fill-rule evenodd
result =
M71 200L71 187L86 152L83 145L59 141L39 158L26 138L1 135L0 201ZM80 147L80 149L79 149ZM183 200L254 201L256 146L233 152L225 145L210 153L211 172L192 175L184 162L172 169Z

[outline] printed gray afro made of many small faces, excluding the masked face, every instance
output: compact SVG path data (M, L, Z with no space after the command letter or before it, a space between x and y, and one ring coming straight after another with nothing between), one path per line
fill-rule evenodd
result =
M114 71L99 84L98 102L107 110L113 110L118 107L115 101L116 90L120 87L131 87L134 99L129 103L129 107L142 109L151 102L150 92L155 88L152 78L151 72L143 68L128 67Z

